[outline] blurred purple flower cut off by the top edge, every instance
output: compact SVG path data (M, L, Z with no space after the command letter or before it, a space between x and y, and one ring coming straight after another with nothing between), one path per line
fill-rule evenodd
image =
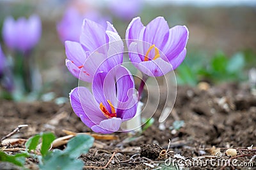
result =
M109 3L109 10L115 17L122 20L131 20L136 17L143 6L141 0L112 0Z

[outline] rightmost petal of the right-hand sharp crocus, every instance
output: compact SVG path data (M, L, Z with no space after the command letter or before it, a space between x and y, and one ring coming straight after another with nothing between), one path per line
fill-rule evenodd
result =
M168 60L172 60L184 50L188 42L188 34L186 26L177 25L170 29L168 41L162 50Z

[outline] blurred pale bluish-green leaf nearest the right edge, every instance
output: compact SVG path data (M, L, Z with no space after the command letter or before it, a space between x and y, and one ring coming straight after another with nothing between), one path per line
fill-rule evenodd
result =
M239 52L236 53L227 64L227 72L228 73L236 73L241 72L244 67L244 55Z

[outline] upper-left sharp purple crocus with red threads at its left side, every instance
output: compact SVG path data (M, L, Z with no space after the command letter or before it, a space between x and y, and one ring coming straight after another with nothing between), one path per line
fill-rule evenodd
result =
M70 73L80 80L92 82L97 71L108 72L122 63L124 43L109 22L103 27L84 19L80 42L65 41L65 49Z

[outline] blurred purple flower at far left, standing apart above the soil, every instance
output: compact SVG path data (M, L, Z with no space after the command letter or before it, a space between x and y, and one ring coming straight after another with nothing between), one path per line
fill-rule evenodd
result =
M28 52L40 40L42 24L38 15L31 15L28 20L24 17L15 21L7 17L3 23L4 43L12 50Z

